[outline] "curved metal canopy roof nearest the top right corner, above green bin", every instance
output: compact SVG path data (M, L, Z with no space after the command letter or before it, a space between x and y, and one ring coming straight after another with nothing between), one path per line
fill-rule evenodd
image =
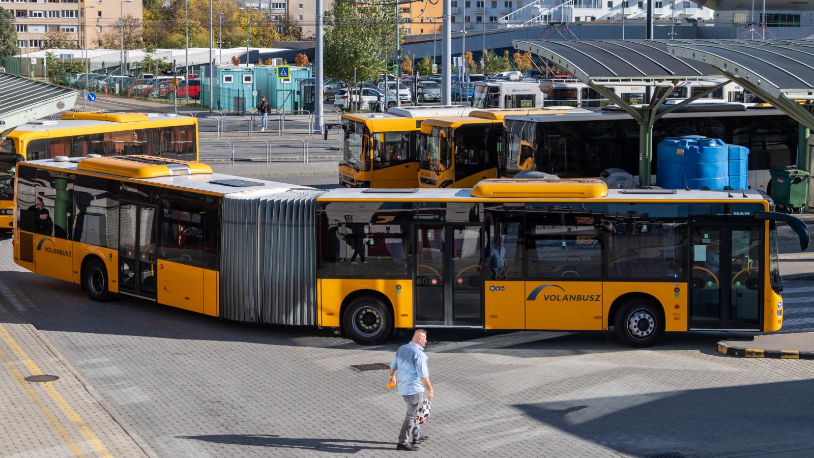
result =
M732 46L734 44L741 46ZM796 121L814 129L814 115L797 100L814 99L814 42L806 39L669 43L670 54L710 64Z

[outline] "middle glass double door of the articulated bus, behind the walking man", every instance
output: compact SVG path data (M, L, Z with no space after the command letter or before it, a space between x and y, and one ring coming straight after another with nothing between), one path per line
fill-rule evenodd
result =
M484 325L480 226L416 227L415 324Z

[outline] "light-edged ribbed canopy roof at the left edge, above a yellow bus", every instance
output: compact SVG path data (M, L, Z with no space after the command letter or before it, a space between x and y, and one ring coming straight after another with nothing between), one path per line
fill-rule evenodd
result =
M72 108L77 91L0 73L0 138L5 130Z

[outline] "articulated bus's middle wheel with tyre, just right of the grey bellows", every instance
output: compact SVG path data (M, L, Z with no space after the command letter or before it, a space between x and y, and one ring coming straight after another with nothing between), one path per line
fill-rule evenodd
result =
M374 345L392 333L392 312L377 297L357 297L345 310L342 327L353 341L362 345Z

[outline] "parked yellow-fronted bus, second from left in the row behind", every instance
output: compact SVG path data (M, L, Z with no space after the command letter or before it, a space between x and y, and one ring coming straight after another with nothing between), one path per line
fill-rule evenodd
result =
M418 187L473 187L482 179L496 178L503 161L503 117L575 112L589 111L571 107L504 108L427 120L421 126Z

